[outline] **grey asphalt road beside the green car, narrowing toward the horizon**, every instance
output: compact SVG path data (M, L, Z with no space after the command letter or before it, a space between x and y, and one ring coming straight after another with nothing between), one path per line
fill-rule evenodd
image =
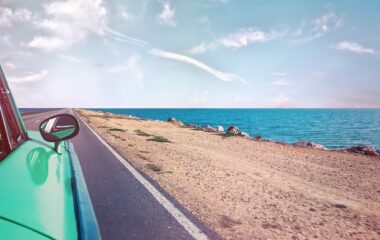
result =
M28 130L38 131L41 121L61 113L76 116L71 109L61 109L23 118ZM82 167L102 239L220 239L149 177L129 170L124 160L76 117L80 132L70 141ZM142 184L140 177L151 188Z

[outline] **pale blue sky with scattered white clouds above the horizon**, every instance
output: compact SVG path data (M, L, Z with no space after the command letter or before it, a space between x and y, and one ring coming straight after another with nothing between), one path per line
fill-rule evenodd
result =
M379 108L380 1L0 0L19 107Z

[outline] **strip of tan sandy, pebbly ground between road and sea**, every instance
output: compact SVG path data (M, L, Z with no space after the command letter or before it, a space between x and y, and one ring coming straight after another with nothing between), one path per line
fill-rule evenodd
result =
M224 239L380 239L380 158L77 110Z

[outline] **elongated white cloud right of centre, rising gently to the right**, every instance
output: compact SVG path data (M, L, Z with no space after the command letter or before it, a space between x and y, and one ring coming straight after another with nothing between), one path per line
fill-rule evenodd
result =
M224 46L226 48L241 48L254 43L264 43L275 39L278 39L286 34L286 31L272 30L271 32L264 32L255 28L243 28L237 32L230 34L226 37L222 37L211 43L201 43L192 49L190 49L191 54L199 54L217 48L219 46Z

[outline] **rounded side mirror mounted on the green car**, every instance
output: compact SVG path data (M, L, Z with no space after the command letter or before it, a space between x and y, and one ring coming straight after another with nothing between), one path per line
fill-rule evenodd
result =
M48 142L59 142L75 137L79 132L77 119L70 114L59 114L40 124L40 133Z

